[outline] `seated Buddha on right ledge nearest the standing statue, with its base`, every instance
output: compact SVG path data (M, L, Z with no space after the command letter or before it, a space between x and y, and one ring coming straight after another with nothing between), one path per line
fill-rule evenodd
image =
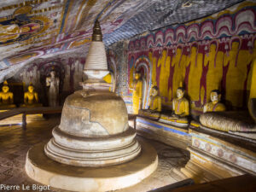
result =
M139 110L139 114L159 118L161 112L161 97L157 86L151 88L148 101L148 109Z

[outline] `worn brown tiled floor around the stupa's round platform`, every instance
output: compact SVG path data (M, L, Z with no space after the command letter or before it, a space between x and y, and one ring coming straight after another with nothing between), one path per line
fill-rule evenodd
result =
M24 169L26 152L34 144L48 141L49 138L52 137L52 128L58 125L59 122L60 118L58 117L32 122L27 125L26 131L22 131L21 125L0 126L0 184L19 185L21 188L22 184L32 186L32 184L36 183L26 176ZM177 174L173 172L173 169L185 165L189 160L188 153L181 149L173 148L152 140L147 141L151 143L158 152L159 166L157 171L143 180L142 183L119 191L143 192L181 180L181 177L178 177ZM0 191L4 190L0 189ZM63 190L51 189L51 191Z

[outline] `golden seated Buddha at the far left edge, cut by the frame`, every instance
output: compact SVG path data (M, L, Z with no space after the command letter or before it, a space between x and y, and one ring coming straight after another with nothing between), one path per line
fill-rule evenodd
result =
M9 91L7 81L3 82L2 91L0 92L0 108L15 108L14 94Z

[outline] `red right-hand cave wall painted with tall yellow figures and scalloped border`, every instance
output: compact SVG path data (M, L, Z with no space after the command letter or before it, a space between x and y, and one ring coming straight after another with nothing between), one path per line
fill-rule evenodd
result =
M143 108L153 85L160 89L163 108L172 108L179 84L186 90L192 113L201 113L215 89L229 109L246 108L256 57L255 18L256 3L240 3L201 20L137 36L122 49L113 44L109 48L113 55L125 55L117 73L128 84L118 79L117 90L128 111L132 112L136 71L143 74L147 87Z

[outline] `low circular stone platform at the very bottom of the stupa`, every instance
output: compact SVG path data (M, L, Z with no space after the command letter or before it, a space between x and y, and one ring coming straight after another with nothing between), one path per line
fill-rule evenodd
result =
M155 171L158 157L155 149L140 141L141 154L117 166L78 167L50 160L44 154L45 143L30 148L26 155L26 173L38 183L71 191L108 191L130 187Z

